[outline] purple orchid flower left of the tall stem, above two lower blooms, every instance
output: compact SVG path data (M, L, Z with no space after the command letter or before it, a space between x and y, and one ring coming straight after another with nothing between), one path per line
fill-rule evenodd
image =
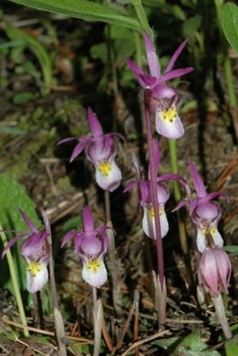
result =
M71 155L70 162L85 149L87 160L91 162L95 168L97 184L102 189L113 192L119 187L122 178L120 169L115 162L117 148L113 136L116 135L123 141L125 140L122 135L115 132L104 134L102 126L97 116L93 113L92 108L87 109L87 118L90 123L92 136L64 138L59 141L58 144L78 140L78 144Z

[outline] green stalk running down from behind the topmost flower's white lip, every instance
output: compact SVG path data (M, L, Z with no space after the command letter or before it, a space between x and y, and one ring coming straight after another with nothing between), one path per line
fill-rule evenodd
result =
M177 157L176 140L174 138L169 138L169 152L170 152L170 162L171 162L172 172L179 174L179 162ZM179 183L176 181L174 182L174 198L176 203L179 203L179 201L181 201L181 189ZM183 260L186 265L188 284L190 288L193 289L195 283L194 283L193 269L192 269L191 259L190 259L188 236L186 233L185 218L183 216L183 213L181 213L181 211L177 211L177 216L179 222L179 238L180 238L181 250L183 253Z

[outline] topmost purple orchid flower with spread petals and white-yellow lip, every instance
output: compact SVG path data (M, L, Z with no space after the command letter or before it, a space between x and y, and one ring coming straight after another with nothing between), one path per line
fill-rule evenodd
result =
M193 71L192 67L172 69L187 41L183 41L174 52L164 74L161 74L160 62L156 55L155 46L146 31L144 31L144 41L151 75L144 73L139 66L130 59L126 59L126 62L137 77L141 87L151 92L151 108L155 111L155 126L158 134L167 138L180 138L184 134L184 129L176 111L178 94L174 87L166 85L165 83Z

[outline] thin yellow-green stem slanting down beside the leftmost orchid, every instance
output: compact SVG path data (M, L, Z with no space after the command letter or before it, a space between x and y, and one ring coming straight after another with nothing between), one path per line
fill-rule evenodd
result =
M3 228L1 226L1 224L0 224L0 230L1 230L1 232L0 232L1 241L3 242L3 247L5 248L5 246L8 243L8 241L7 241L7 238L6 238L6 234L4 234L4 232L3 232ZM9 266L9 270L10 270L10 278L11 278L12 283L13 283L13 290L15 292L15 299L16 299L17 304L18 304L18 310L19 310L19 313L20 313L20 319L21 319L22 325L27 327L27 318L26 318L24 307L23 307L23 304L22 304L22 297L21 297L20 290L19 290L19 287L18 287L18 278L17 278L17 275L15 273L15 267L14 267L14 263L13 263L13 256L12 256L12 254L10 252L10 249L6 252L6 258L8 260L8 266ZM27 329L23 329L23 334L24 334L25 337L29 337L29 331Z

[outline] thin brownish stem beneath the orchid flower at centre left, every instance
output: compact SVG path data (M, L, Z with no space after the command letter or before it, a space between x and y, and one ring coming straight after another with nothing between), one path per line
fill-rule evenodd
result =
M111 206L110 206L110 196L108 191L104 191L105 199L105 208L106 208L106 225L111 227L107 230L109 236L109 260L110 260L110 272L111 272L111 281L113 285L113 307L117 315L120 315L120 285L118 282L118 269L116 266L116 247L115 247L115 238L113 232L113 223L111 222Z

